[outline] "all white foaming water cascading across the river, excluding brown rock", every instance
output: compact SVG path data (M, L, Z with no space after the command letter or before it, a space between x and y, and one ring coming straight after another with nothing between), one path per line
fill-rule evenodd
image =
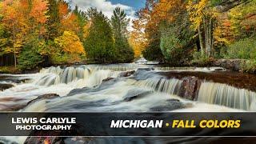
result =
M24 110L148 111L154 106L170 104L171 99L178 99L181 103L189 102L190 107L199 106L202 102L214 104L217 111L219 109L217 105L241 110L256 110L256 94L253 91L221 83L202 82L198 87L198 92L194 93L196 94L194 101L183 99L187 97L183 97L181 94L190 94L190 91L196 90L188 90L185 93L181 93L181 91L193 86L184 85L182 78L167 78L158 74L158 71L167 70L168 72L168 70L175 71L175 69L136 65L91 65L63 68L52 66L42 69L38 74L33 74L33 77L31 75L29 82L16 84L14 87L0 92L0 107L5 109L8 106L17 105L18 102L24 105L39 95L54 93L59 94L62 98L41 101L36 103L38 106L27 106ZM182 70L199 69L186 68ZM30 77L30 74L27 77ZM103 82L104 79L106 82ZM1 98L9 98L10 102L1 102ZM153 99L154 101L152 101ZM186 108L182 105L179 108Z

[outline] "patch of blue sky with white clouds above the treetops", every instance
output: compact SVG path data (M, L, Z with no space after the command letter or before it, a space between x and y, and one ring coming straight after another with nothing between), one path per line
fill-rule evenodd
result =
M80 10L87 10L96 7L108 18L111 18L115 7L119 6L126 11L127 17L132 21L135 19L135 12L145 6L146 0L70 0L72 6L78 6ZM131 29L131 22L130 28Z

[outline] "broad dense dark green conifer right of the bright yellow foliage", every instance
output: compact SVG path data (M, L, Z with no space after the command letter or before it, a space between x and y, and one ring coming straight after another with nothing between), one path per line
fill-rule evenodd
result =
M93 62L114 62L116 50L109 19L102 12L90 8L86 13L90 28L84 42L87 58Z

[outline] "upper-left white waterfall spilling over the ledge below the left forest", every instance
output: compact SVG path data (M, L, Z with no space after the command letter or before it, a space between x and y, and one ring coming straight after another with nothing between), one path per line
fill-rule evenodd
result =
M40 71L42 77L36 78L34 83L39 86L51 86L60 83L82 81L84 86L96 86L102 83L105 78L116 78L119 72L102 70L101 67L69 66L66 68L50 67Z

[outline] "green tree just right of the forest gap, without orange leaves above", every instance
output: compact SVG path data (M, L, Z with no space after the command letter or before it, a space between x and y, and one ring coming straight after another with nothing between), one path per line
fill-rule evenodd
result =
M171 22L163 21L160 30L160 48L166 62L185 64L191 58L190 51L194 48L194 32L190 30L190 21L186 10L178 10L176 18Z

